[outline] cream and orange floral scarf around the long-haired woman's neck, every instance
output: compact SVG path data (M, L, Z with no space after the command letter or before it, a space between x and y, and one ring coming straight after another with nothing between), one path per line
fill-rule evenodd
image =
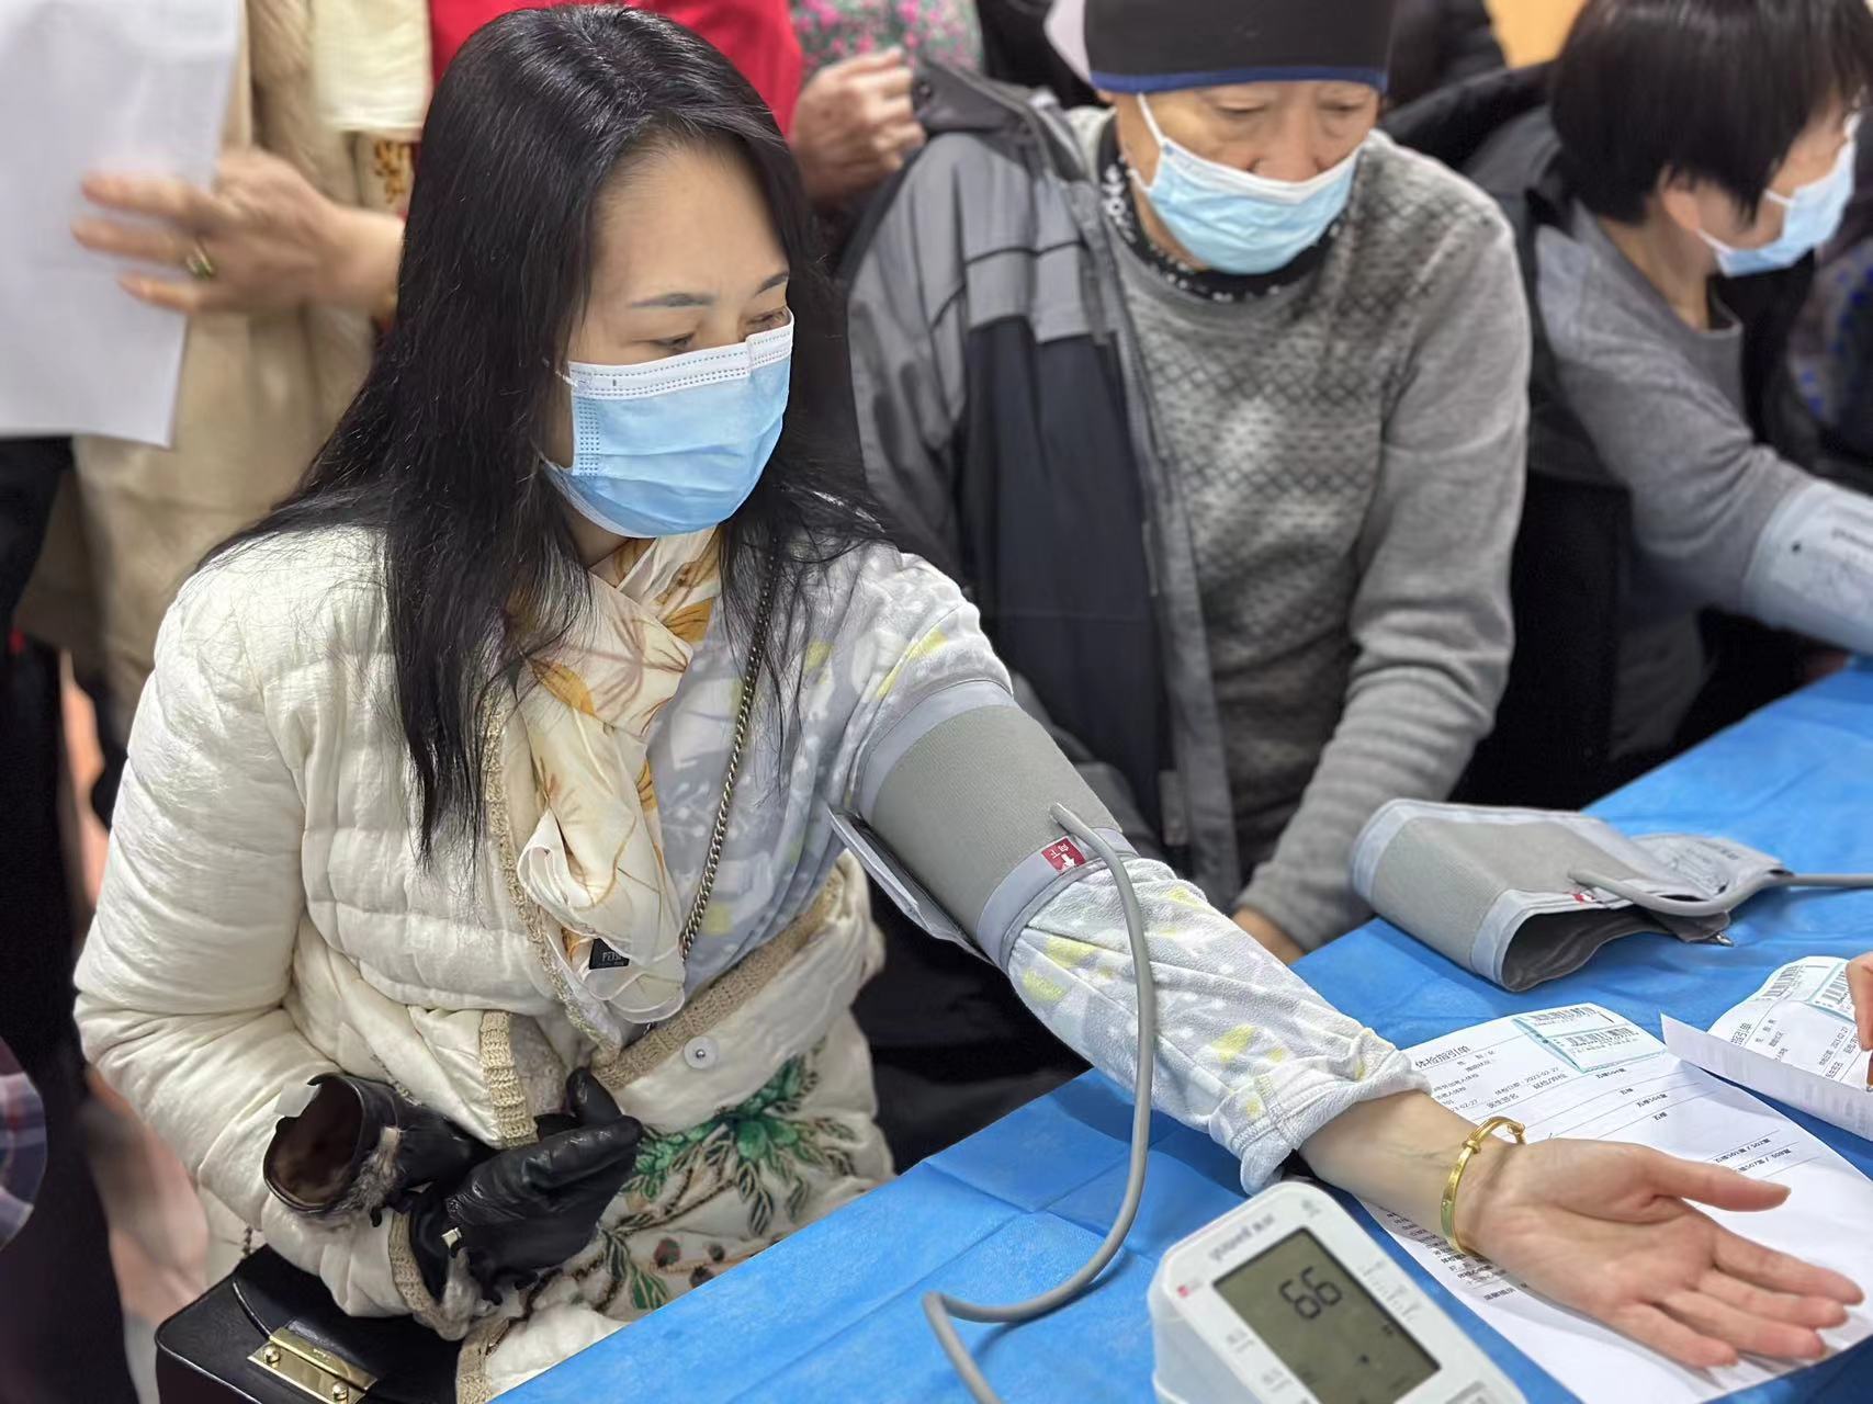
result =
M715 532L626 541L592 569L592 608L521 696L545 812L521 885L560 923L571 972L641 1024L684 1003L686 915L663 865L652 724L721 593Z

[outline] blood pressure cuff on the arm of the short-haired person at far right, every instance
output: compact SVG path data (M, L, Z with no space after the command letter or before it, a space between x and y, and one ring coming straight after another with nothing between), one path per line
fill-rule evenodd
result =
M1768 519L1744 578L1749 612L1873 653L1873 498L1815 481Z

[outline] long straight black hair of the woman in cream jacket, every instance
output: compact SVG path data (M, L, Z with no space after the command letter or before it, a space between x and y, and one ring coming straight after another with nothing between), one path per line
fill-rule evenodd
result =
M564 638L588 599L538 429L588 296L601 193L671 144L742 154L789 258L787 425L721 532L723 607L740 638L777 571L764 678L789 672L813 578L884 535L850 432L843 309L792 152L747 80L689 30L626 6L513 11L479 30L423 127L395 326L300 489L221 548L307 528L378 534L425 857L481 831L496 689Z

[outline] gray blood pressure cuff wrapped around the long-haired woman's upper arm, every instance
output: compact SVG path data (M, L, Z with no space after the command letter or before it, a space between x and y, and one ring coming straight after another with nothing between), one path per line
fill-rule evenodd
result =
M931 693L871 745L833 824L905 915L1006 970L1028 921L1101 867L1054 805L1133 854L1047 730L1006 689L972 681Z

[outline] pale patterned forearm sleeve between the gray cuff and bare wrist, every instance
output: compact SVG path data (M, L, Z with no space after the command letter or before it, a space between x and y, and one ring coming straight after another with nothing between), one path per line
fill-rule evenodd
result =
M1427 1084L1163 863L1126 867L1158 981L1158 1110L1206 1131L1255 1191L1349 1106ZM1109 870L1062 891L1015 942L1023 1002L1101 1073L1131 1086L1139 996Z

